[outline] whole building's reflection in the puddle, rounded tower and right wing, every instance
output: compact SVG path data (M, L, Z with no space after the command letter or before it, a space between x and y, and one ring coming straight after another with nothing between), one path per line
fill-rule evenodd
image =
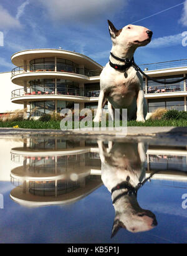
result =
M24 139L11 150L21 164L11 170L16 188L11 198L24 205L68 204L82 199L102 185L96 141L74 142L62 137ZM159 170L153 179L187 180L186 148L149 145L147 172Z

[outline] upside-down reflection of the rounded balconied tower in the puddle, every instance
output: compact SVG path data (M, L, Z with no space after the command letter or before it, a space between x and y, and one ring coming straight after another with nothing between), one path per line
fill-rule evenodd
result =
M11 150L11 159L22 162L11 170L16 185L11 198L28 206L69 204L100 187L100 176L85 166L90 148L83 145L59 138L24 140L23 147Z

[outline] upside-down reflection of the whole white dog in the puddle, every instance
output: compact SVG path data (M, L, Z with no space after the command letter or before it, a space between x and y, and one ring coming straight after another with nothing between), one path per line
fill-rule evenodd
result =
M157 225L155 214L144 210L137 202L135 187L145 178L145 145L108 143L105 147L98 140L100 159L102 162L102 181L107 189L112 192L115 219L113 222L112 236L123 227L130 232L142 232L153 229ZM125 185L124 185L125 184ZM128 193L129 188L134 193Z

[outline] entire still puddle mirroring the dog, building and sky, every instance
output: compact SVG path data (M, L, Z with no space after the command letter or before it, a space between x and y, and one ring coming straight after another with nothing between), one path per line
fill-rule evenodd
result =
M1 243L187 241L184 144L12 136L0 152Z

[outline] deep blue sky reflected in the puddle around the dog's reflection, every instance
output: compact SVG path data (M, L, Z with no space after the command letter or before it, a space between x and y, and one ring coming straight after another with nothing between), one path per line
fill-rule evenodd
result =
M175 187L173 187L175 185ZM110 239L114 209L108 190L102 185L74 204L27 208L9 197L14 188L0 182L4 209L0 209L1 243L185 243L187 209L181 196L187 193L185 182L151 180L138 192L138 202L151 210L158 225L132 234L120 229Z

